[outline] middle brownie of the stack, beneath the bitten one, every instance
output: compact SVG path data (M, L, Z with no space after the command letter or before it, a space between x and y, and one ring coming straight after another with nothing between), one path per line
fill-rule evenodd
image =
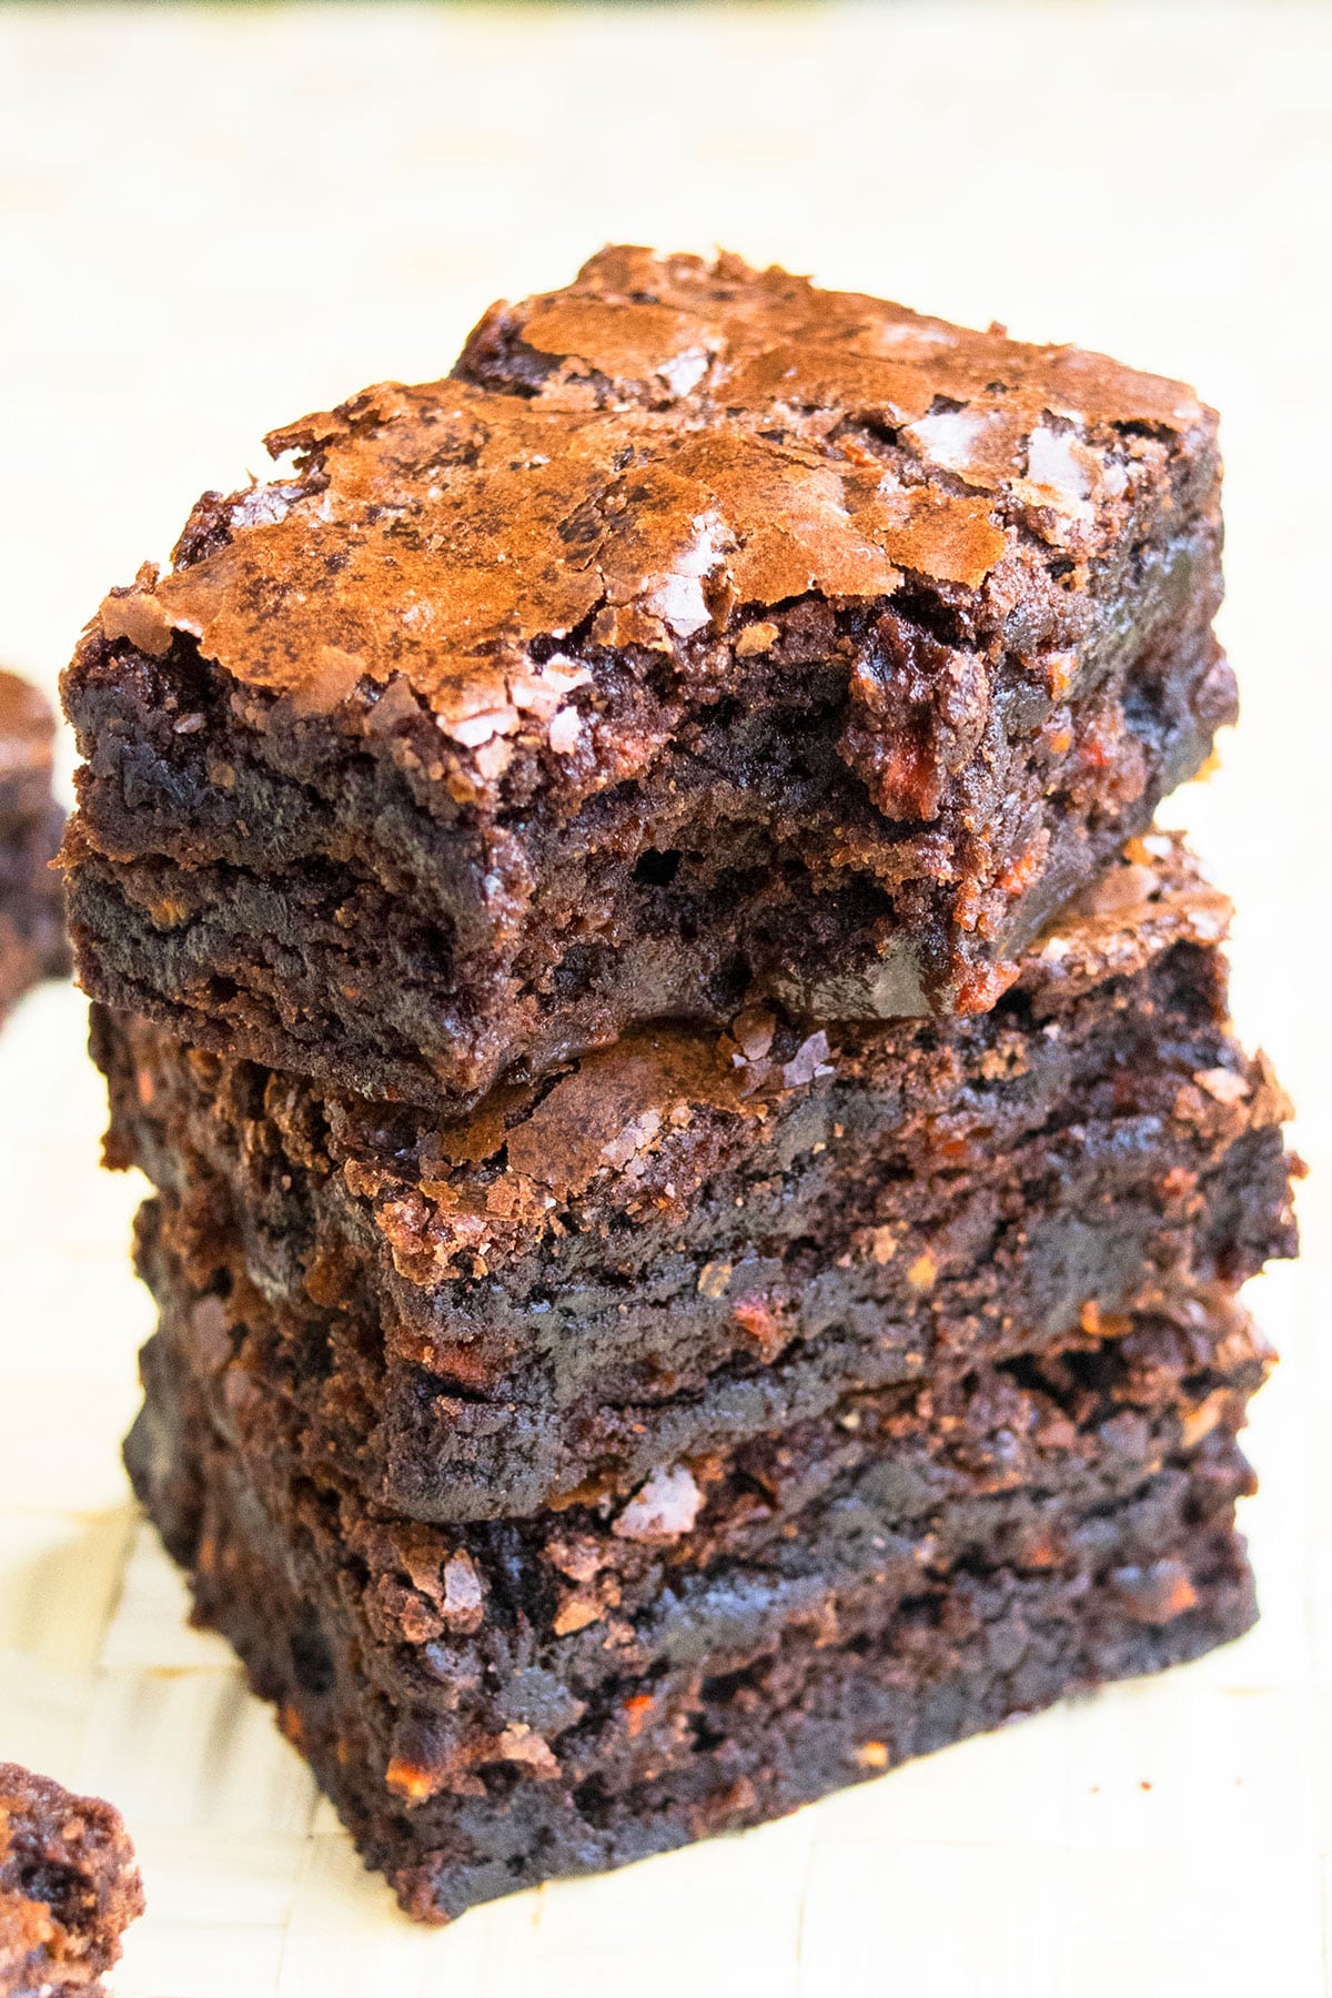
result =
M521 1514L1292 1255L1224 923L1152 835L989 1015L639 1031L445 1125L94 1007L108 1157L164 1189L162 1309L268 1315L371 1497Z

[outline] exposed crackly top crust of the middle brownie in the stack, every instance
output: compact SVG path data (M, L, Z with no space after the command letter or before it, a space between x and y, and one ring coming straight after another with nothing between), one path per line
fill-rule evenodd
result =
M839 1083L905 1089L905 1115L925 1119L969 1087L1002 1085L1030 1063L1032 1039L1080 995L1140 973L1162 951L1224 937L1226 899L1198 875L1174 835L1128 843L1118 865L1030 947L1012 999L953 1033L917 1021L807 1033L767 1011L727 1031L635 1027L555 1077L501 1085L469 1115L437 1123L409 1107L367 1103L310 1083L190 1051L188 1071L224 1119L246 1121L242 1143L280 1133L288 1159L316 1177L339 1175L365 1201L399 1273L433 1285L483 1277L495 1259L615 1215L679 1219L745 1127L757 1143L797 1113L795 1151L827 1137L801 1105ZM1016 1009L1016 1011L1014 1011ZM1030 1015L1030 1017L1028 1017ZM152 1107L172 1087L172 1037L130 1023L138 1093ZM1194 1077L1200 1123L1272 1123L1288 1115L1266 1071ZM262 1095L262 1117L258 1101ZM224 1105L232 1105L230 1111ZM166 1103L162 1115L172 1117ZM252 1121L256 1119L256 1121Z

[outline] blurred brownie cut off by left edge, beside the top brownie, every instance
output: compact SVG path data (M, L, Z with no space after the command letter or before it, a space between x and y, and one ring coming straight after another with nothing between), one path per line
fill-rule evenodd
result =
M52 861L64 811L52 797L56 717L36 687L0 671L0 1019L70 969Z

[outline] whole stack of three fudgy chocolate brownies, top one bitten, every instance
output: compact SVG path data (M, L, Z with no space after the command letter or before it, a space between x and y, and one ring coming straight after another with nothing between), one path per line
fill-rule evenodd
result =
M1254 1614L1188 390L609 250L66 677L130 1469L425 1920Z

